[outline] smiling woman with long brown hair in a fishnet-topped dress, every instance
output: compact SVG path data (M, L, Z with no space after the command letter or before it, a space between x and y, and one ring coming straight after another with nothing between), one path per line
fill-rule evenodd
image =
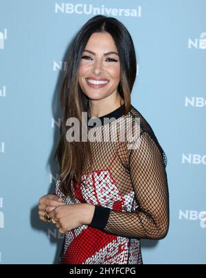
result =
M143 264L140 239L168 233L167 159L130 103L136 67L133 40L115 18L93 17L71 44L61 91L56 195L39 200L40 219L65 234L60 264ZM82 112L88 112L86 125ZM79 142L69 140L71 117L87 127L89 140L77 129Z

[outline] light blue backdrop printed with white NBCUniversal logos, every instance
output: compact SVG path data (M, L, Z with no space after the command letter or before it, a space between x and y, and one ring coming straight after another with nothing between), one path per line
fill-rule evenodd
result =
M144 264L206 263L206 1L0 0L0 263L56 264L62 237L38 220L54 193L65 53L91 17L135 44L132 104L167 157L170 230L142 240Z

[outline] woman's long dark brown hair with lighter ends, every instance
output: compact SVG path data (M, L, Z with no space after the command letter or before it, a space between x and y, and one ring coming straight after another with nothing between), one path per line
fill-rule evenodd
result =
M78 178L82 176L84 162L86 160L87 162L89 161L90 170L93 164L89 140L87 142L81 142L82 140L80 142L68 142L66 140L66 122L68 118L75 117L79 120L81 128L82 112L86 112L89 109L89 99L82 92L78 84L78 69L84 47L87 45L91 34L95 32L108 32L111 34L119 52L121 78L117 89L120 96L124 99L124 114L128 114L130 110L130 94L137 74L135 47L133 45L133 39L126 27L113 17L97 15L89 19L82 26L78 34L76 34L69 47L67 68L62 79L62 87L60 90L62 123L54 159L57 157L58 163L60 164L60 171L58 173L60 190L66 196L69 195L71 199L73 199L71 181L74 175Z

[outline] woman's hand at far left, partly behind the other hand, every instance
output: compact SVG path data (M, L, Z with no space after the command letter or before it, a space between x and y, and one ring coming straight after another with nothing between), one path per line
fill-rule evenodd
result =
M38 216L39 219L46 222L45 213L49 213L58 206L64 205L63 200L56 195L47 194L41 197L38 201Z

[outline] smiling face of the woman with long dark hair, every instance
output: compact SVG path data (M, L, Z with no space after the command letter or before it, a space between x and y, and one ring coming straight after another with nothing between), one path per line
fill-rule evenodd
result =
M82 91L88 98L100 100L117 94L119 81L120 63L113 37L108 32L93 33L82 53L78 72Z

